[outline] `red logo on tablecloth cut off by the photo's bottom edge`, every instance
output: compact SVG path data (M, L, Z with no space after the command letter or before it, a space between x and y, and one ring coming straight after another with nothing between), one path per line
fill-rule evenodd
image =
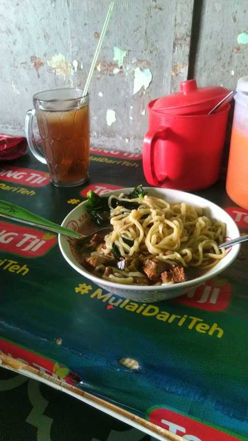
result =
M147 419L151 423L179 435L187 441L239 441L238 438L220 432L213 427L199 423L184 415L168 409L153 407L147 411Z

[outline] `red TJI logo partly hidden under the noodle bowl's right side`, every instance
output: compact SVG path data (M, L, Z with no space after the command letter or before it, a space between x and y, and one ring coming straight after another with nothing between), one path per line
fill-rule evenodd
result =
M226 279L216 277L172 301L205 311L218 312L227 309L231 296L232 285Z

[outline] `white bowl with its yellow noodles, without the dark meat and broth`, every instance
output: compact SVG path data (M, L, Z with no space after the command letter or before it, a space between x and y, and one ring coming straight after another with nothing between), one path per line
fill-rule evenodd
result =
M235 222L222 208L183 191L146 188L148 194L144 198L129 199L130 202L139 203L137 210L123 209L122 193L130 193L131 190L119 189L104 194L105 197L109 196L109 203L117 197L120 202L111 209L113 231L105 236L106 249L103 252L107 254L113 245L118 247L123 257L130 257L138 251L148 251L161 262L176 261L186 268L201 268L205 272L183 283L159 285L134 284L135 278L140 277L135 272L123 277L121 271L117 270L101 278L78 263L70 242L60 235L60 249L67 262L101 288L141 302L171 299L215 277L236 258L240 245L234 246L226 254L217 246L217 243L225 240L225 236L239 236ZM85 201L66 216L62 226L80 230L85 218L82 215L86 213ZM130 239L130 243L123 239Z

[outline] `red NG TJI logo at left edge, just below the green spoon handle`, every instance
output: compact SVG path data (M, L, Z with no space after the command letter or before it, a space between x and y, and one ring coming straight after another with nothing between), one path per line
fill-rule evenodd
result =
M25 257L39 257L48 252L57 243L57 236L0 222L0 250L13 252Z

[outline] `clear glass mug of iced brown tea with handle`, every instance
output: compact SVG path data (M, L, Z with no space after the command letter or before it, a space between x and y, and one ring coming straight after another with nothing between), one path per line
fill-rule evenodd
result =
M89 177L89 95L79 89L55 89L33 95L25 132L32 154L47 164L56 187L75 187ZM36 116L43 152L34 141Z

